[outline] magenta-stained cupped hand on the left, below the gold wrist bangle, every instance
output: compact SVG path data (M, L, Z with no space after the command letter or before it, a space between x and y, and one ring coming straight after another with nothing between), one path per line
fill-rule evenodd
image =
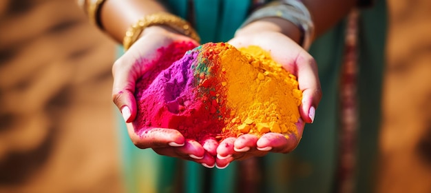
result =
M166 48L176 42L191 42L194 48L196 41L160 26L146 28L141 37L123 54L112 67L114 85L112 97L123 114L130 139L138 148L152 148L158 154L173 156L202 163L207 167L215 165L215 139L194 141L185 139L178 130L170 128L136 128L137 104L134 96L136 81L147 76L156 67L158 59L163 57L160 48ZM189 48L189 49L191 49ZM187 50L184 50L186 52ZM169 54L170 56L171 54ZM174 61L172 61L174 62ZM148 76L154 77L155 76Z

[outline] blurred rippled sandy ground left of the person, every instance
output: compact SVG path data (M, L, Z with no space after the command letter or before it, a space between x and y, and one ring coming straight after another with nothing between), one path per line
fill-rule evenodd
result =
M122 192L114 43L73 0L0 3L0 192Z

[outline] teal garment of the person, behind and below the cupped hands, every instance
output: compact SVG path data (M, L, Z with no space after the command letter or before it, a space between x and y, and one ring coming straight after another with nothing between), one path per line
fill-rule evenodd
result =
M188 0L166 1L171 11L188 19ZM228 41L247 16L249 0L196 0L196 30L202 43ZM220 14L220 15L219 15ZM220 17L218 17L220 16ZM359 65L359 147L356 192L372 192L377 158L381 77L386 34L385 1L361 11ZM257 192L335 192L337 185L338 85L344 49L344 22L317 39L310 50L319 66L323 97L315 122L307 124L302 141L290 154L257 159L262 181ZM139 150L121 125L127 192L240 192L234 161L223 170Z

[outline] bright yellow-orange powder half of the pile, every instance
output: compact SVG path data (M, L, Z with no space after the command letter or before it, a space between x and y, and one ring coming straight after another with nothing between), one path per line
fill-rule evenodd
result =
M222 85L227 88L227 107L231 108L224 133L297 134L302 92L296 77L260 47L237 50L226 45L219 54L227 79Z

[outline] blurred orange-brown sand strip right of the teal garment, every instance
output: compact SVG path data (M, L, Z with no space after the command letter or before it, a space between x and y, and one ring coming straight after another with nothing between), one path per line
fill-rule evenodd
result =
M431 1L389 0L379 192L431 192Z

